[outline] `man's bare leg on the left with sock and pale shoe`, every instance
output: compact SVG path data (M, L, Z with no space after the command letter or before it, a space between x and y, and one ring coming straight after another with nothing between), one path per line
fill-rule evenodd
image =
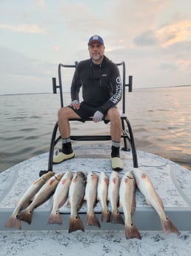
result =
M70 142L70 122L69 119L80 119L71 108L64 107L58 111L58 128L61 134L62 148L56 153L53 158L53 163L61 163L64 160L75 157L73 148Z

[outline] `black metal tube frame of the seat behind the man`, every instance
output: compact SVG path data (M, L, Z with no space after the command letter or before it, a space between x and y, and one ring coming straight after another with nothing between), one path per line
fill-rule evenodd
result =
M78 62L75 62L74 65L64 65L59 64L58 65L58 85L56 85L56 77L53 77L53 93L57 93L57 89L59 89L60 92L60 101L61 101L61 108L64 107L64 101L63 101L63 92L62 92L62 81L61 81L61 68L76 68L78 65ZM124 147L122 148L124 151L130 151L130 148L127 147L127 141L130 143L130 147L132 150L133 155L133 167L138 167L138 160L137 160L137 154L135 149L135 142L133 137L133 130L130 125L130 121L127 119L127 116L125 114L125 91L126 87L129 88L129 92L133 91L133 76L129 76L129 83L126 84L126 69L125 69L125 63L116 63L116 65L121 66L122 65L122 113L121 113L121 123L122 123L122 134L121 138L124 141ZM70 122L72 121L80 121L80 119L70 119ZM91 118L88 118L87 121L92 121ZM48 170L53 171L53 154L54 154L54 147L58 143L59 140L61 140L61 137L58 136L56 138L58 130L58 122L56 122L56 125L53 129L53 134L50 142L50 151L49 151L49 160L48 160ZM76 140L76 141L96 141L96 140L111 140L110 135L73 135L71 133L70 140Z

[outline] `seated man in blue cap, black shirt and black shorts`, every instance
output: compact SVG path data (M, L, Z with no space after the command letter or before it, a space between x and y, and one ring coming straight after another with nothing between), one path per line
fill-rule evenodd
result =
M118 67L104 56L104 49L104 40L101 36L90 37L90 59L79 62L73 76L70 91L72 102L58 111L62 148L56 152L53 163L61 163L75 157L70 142L69 119L81 119L85 122L88 117L93 116L94 122L110 122L111 165L115 171L121 171L123 168L119 154L121 116L116 107L121 100L121 79ZM79 102L80 88L84 99L82 102Z

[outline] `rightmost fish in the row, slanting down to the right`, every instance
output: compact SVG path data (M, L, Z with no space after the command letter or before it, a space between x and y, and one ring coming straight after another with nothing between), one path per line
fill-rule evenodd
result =
M142 194L144 194L147 203L153 206L155 211L157 211L164 232L174 232L176 234L180 234L180 232L178 232L178 229L176 229L170 219L166 216L164 212L163 202L156 193L155 188L153 187L153 184L151 183L150 178L147 176L147 174L145 174L139 168L134 168L133 173L135 175L138 189L141 191Z

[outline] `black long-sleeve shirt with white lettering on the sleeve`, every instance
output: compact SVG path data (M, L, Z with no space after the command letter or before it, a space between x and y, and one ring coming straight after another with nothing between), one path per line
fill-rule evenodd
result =
M80 88L84 103L105 114L121 100L121 78L117 65L106 56L101 65L95 65L91 59L79 62L70 89L72 101L79 100Z

